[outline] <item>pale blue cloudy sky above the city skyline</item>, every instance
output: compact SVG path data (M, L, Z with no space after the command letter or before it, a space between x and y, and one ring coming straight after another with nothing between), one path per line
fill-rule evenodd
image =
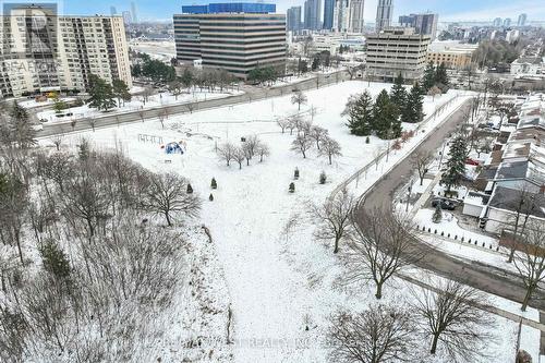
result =
M37 2L37 1L33 1ZM208 2L234 2L234 1L165 1L158 5L153 0L134 1L138 9L138 17L142 21L157 20L169 21L172 14L180 13L182 5L198 4ZM265 1L277 4L277 11L286 13L291 7L304 5L304 1L278 0ZM64 14L110 14L111 7L116 8L118 14L122 11L131 10L131 1L119 0L96 0L93 2L80 2L65 0L60 3L61 13ZM322 4L324 7L324 4ZM374 23L376 15L377 0L365 1L364 20L366 23ZM545 20L545 4L538 0L512 1L506 0L482 0L479 2L461 0L458 2L445 2L439 0L396 0L393 7L393 20L404 13L435 12L440 15L441 22L453 21L486 21L492 22L495 17L511 17L516 20L519 14L528 13L529 22Z

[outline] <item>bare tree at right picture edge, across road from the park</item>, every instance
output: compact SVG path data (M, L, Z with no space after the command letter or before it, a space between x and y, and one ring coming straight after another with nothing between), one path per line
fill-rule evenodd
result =
M522 256L514 258L514 267L526 289L521 307L525 312L533 293L545 280L545 223L531 221L520 242Z

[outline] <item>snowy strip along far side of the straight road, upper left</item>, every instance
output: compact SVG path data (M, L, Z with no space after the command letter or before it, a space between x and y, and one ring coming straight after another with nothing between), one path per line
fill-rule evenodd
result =
M150 109L161 106L172 106L182 105L187 102L205 101L207 99L225 98L229 96L240 95L241 92L238 90L223 90L223 93L209 93L209 92L185 92L181 95L174 96L169 93L157 94L148 97L148 100L144 102L143 96L133 96L132 100L124 102L119 108L114 108L107 113L99 111L94 108L89 108L88 105L81 107L73 107L63 110L62 113L68 112L73 113L72 117L57 117L55 110L46 110L37 113L38 119L48 120L48 122L70 122L71 120L76 120L81 118L96 118L104 114L117 114L130 111L137 111L142 109Z

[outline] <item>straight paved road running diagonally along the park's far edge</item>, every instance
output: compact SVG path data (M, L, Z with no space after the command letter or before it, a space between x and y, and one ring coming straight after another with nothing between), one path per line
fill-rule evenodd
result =
M331 73L329 75L319 74L316 77L302 81L298 84L286 85L281 87L275 87L275 88L245 87L244 88L244 90L246 92L245 94L230 96L226 98L209 99L206 101L198 101L191 104L162 106L150 109L144 109L140 111L119 113L119 114L105 114L104 117L94 118L93 120L80 119L76 120L73 126L70 124L70 122L44 124L44 130L38 133L38 137L47 137L57 134L70 133L74 131L90 130L93 122L95 123L96 129L101 129L101 128L116 126L122 123L142 122L143 120L157 119L159 118L159 116L165 114L165 111L167 111L166 113L169 117L173 114L187 113L190 112L189 105L191 105L191 107L193 108L193 112L218 108L218 107L225 107L225 106L240 105L265 98L289 95L295 87L301 90L314 89L330 84L343 82L347 78L348 78L348 73L346 71L339 71L336 73Z

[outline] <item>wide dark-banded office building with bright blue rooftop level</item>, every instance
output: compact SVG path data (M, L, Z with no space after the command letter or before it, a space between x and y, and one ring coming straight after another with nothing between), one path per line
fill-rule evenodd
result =
M286 72L286 15L265 3L214 3L182 7L174 15L177 58L202 60L246 78L256 68Z

